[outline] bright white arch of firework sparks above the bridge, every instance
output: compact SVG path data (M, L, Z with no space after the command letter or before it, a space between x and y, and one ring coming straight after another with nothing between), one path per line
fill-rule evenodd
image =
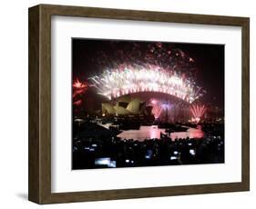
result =
M102 75L90 77L97 94L108 99L138 92L159 92L174 95L192 103L201 95L201 88L189 79L159 68L125 68L106 70Z

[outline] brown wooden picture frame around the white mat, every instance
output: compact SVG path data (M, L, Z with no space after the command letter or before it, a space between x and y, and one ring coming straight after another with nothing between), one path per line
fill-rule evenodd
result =
M110 18L200 25L241 26L242 136L241 182L197 184L91 192L51 192L51 16ZM29 186L28 199L37 204L114 200L180 194L210 194L250 189L250 19L219 15L131 11L67 5L29 8Z

